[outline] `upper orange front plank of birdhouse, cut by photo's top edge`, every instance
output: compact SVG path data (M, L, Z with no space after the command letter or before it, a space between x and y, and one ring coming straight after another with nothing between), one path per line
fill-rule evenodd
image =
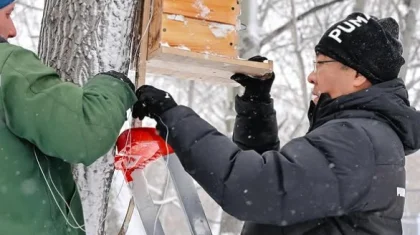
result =
M236 25L241 14L241 6L237 0L164 0L163 11L169 14Z

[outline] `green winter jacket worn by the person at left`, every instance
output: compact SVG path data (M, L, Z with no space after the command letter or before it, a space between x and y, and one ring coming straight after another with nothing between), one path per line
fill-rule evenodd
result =
M8 43L0 43L0 76L0 234L85 234L68 225L76 223L65 201L83 225L71 164L89 165L113 147L134 92L108 75L82 88L63 82Z

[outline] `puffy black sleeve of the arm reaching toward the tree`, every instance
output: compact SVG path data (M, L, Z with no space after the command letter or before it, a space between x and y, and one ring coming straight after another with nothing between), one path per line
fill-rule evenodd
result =
M282 226L364 206L374 154L359 127L326 125L261 155L241 150L187 107L165 112L162 122L185 170L240 220Z

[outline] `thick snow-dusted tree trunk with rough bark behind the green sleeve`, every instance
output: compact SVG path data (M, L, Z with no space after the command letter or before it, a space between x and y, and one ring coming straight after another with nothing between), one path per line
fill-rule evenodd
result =
M55 68L63 80L78 84L102 71L127 74L135 2L46 0L40 58ZM113 172L112 150L89 167L74 167L88 235L104 234Z

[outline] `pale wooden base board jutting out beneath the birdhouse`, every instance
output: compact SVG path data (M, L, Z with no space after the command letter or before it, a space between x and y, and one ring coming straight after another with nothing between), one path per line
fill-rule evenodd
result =
M181 79L237 85L230 80L234 73L261 76L273 71L273 62L253 62L205 55L171 47L161 47L150 54L147 72Z

